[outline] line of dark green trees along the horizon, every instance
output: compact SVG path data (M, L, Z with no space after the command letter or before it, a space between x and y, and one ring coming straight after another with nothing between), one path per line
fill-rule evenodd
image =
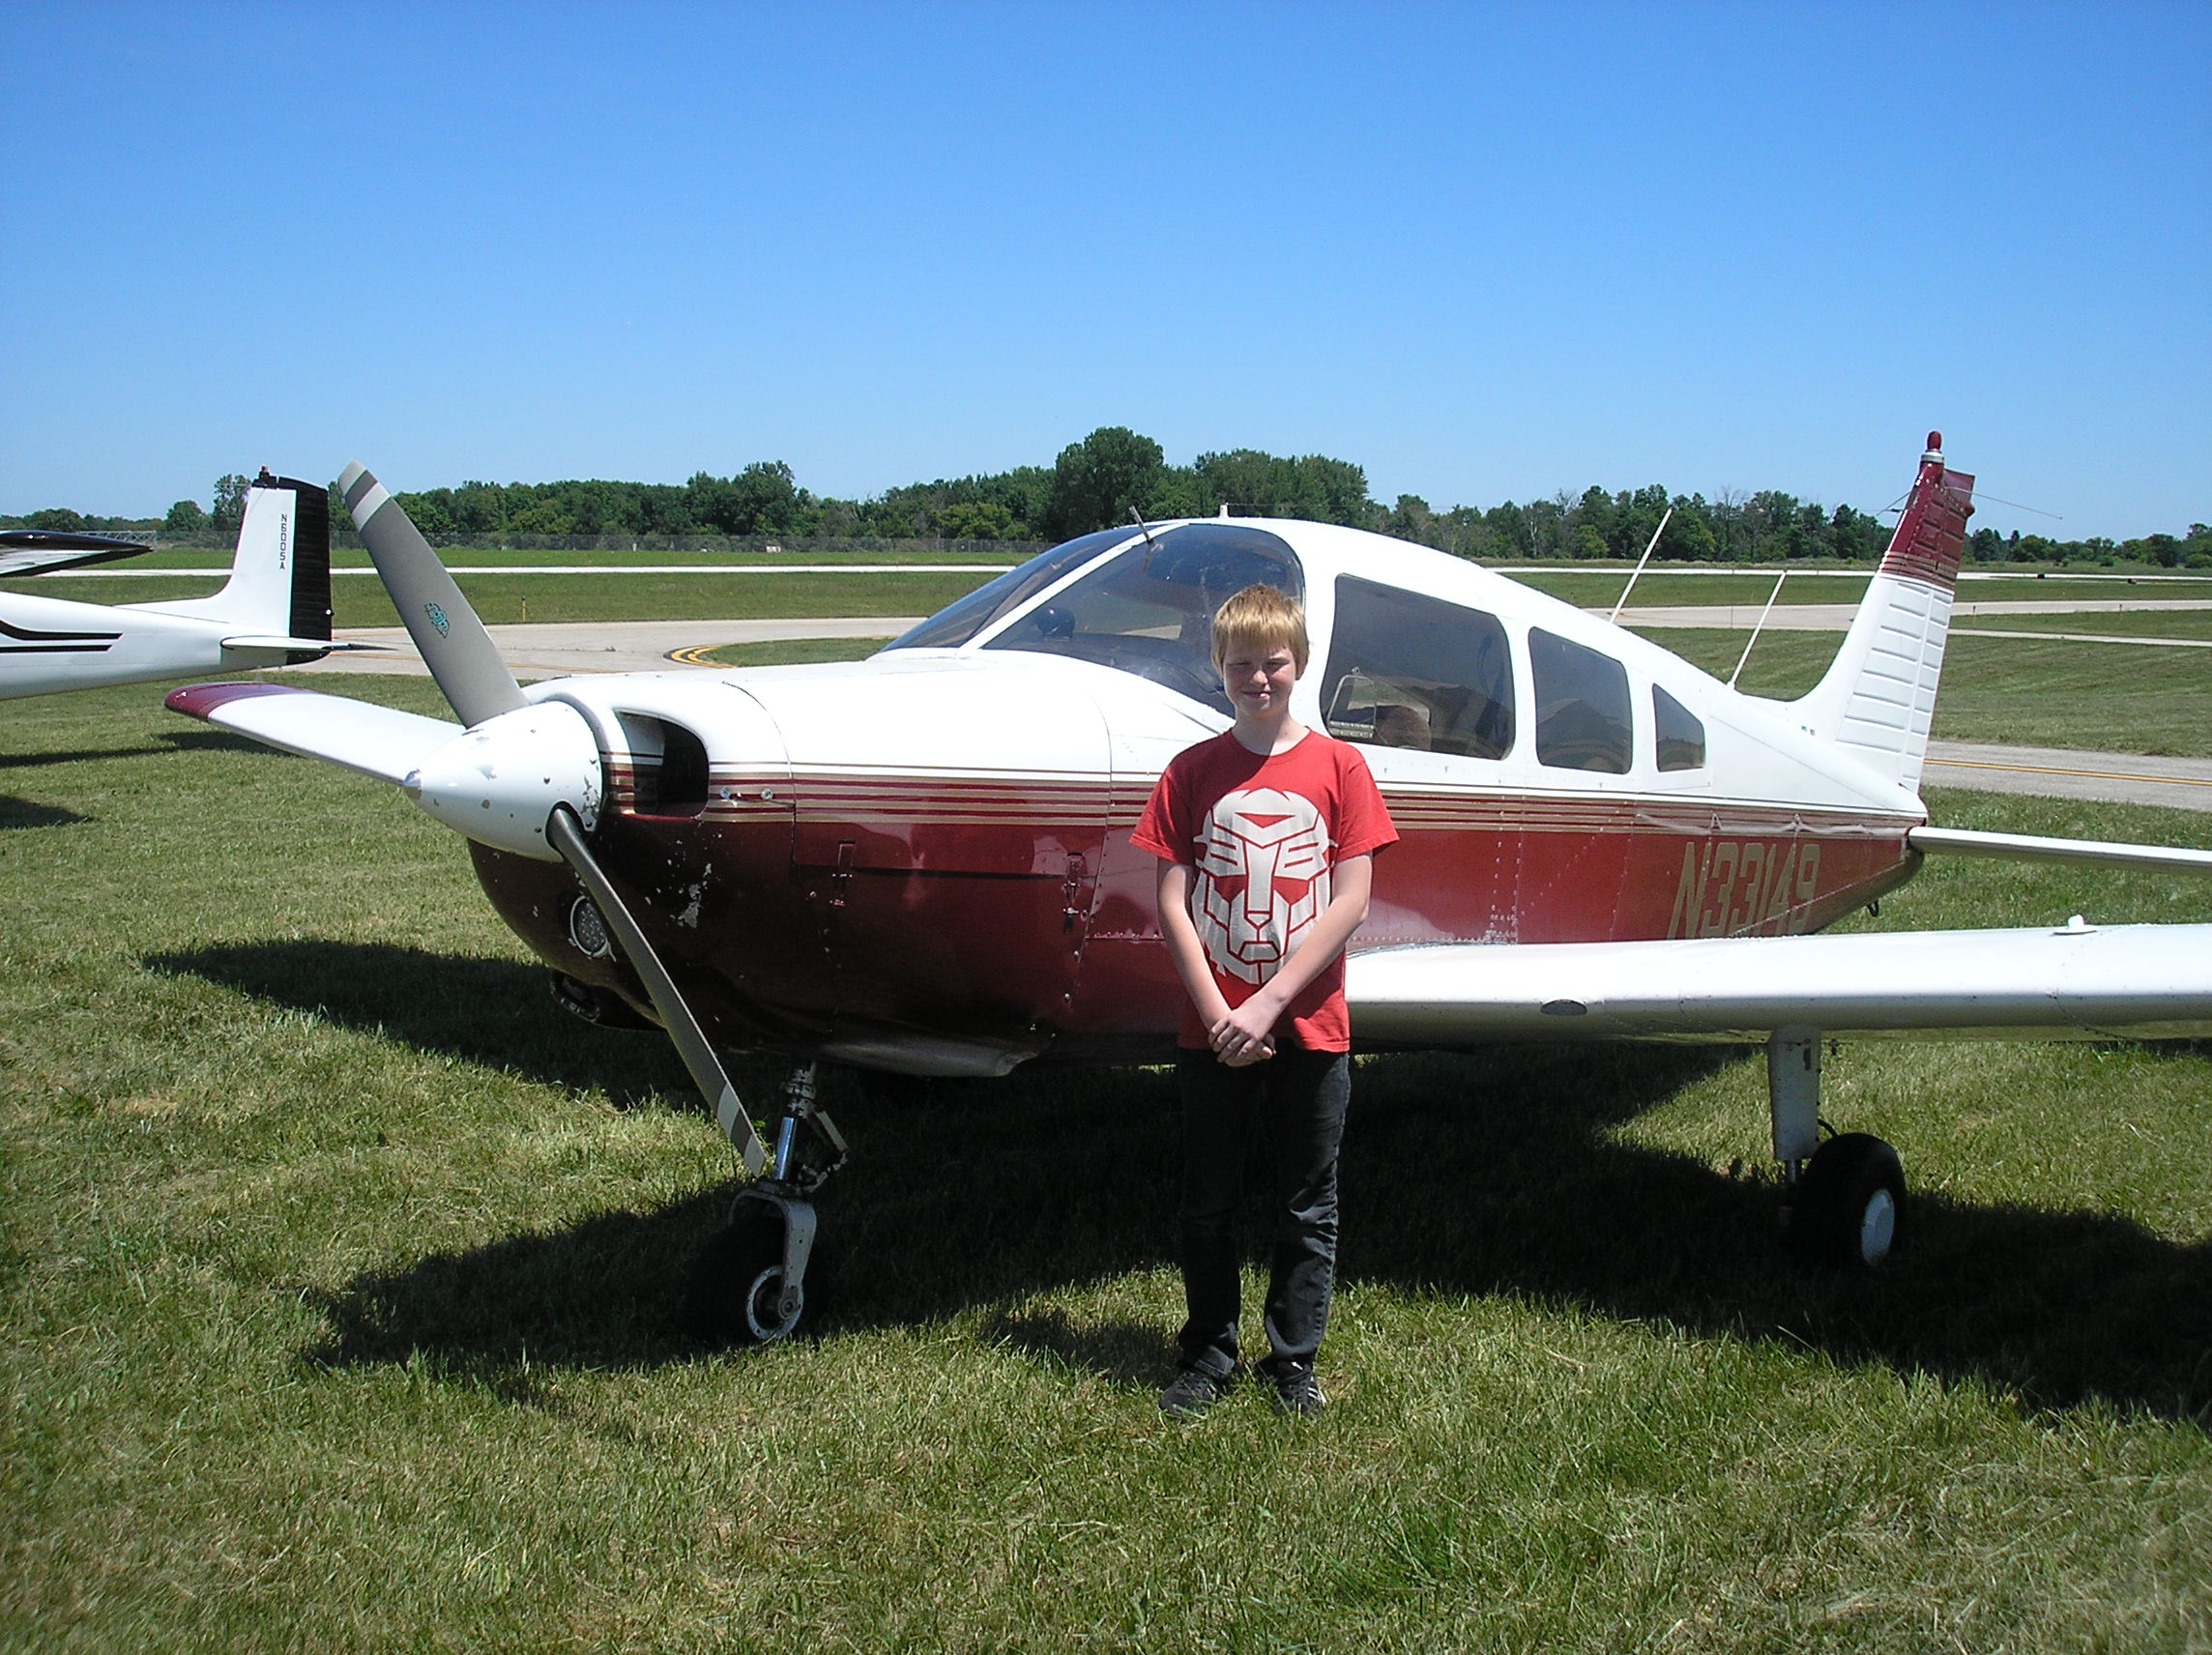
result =
M239 524L250 478L215 482L212 507L179 500L166 518L95 518L69 509L0 518L0 527L124 529L166 535L228 533ZM1201 454L1168 465L1164 449L1124 425L1099 427L1068 443L1053 465L1020 465L936 482L909 482L867 500L816 496L799 487L781 460L757 460L732 476L699 471L675 482L462 482L400 493L400 504L431 540L580 538L580 535L721 535L838 540L1068 540L1133 513L1210 518L1223 507L1248 518L1310 518L1436 547L1480 562L1577 562L1639 558L1666 522L1655 560L1670 562L1871 562L1889 544L1891 524L1878 513L1778 489L1756 493L1670 493L1584 489L1579 496L1495 507L1436 511L1413 493L1383 504L1367 491L1367 471L1321 454L1276 456L1259 449ZM332 522L345 504L332 485ZM2057 540L1975 529L1973 562L2128 562L2163 569L2212 569L2212 529L2192 522L2185 535L2137 540Z

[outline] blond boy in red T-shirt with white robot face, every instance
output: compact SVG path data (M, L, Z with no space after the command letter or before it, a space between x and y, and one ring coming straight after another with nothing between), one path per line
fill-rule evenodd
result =
M1212 642L1237 724L1175 757L1130 836L1159 856L1159 929L1188 996L1175 1069L1188 1319L1181 1372L1159 1409L1197 1418L1237 1370L1230 1219L1245 1137L1265 1111L1276 1217L1261 1374L1281 1412L1316 1414L1352 1093L1345 943L1367 918L1371 856L1398 832L1358 750L1290 717L1307 662L1298 604L1245 586L1214 613Z

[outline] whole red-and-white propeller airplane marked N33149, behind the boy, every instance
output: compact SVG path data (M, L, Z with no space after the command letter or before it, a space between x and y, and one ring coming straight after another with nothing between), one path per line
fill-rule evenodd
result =
M1181 989L1128 830L1230 724L1210 617L1305 602L1294 715L1365 748L1402 841L1349 962L1363 1049L1767 1047L1785 1217L1878 1263L1905 1199L1878 1137L1820 1139L1832 1035L2212 1033L2212 925L1814 936L1927 854L2212 872L2212 852L1947 832L1918 797L1973 478L1929 434L1823 681L1741 695L1471 562L1283 520L1082 535L865 662L522 690L405 511L341 491L460 724L274 684L168 706L396 783L469 841L580 1016L659 1024L754 1179L708 1250L739 1339L805 1305L814 1193L847 1146L814 1062L1002 1075L1170 1055ZM1256 830L1239 929L1307 901ZM774 1151L717 1049L794 1060ZM719 1290L719 1288L717 1288Z

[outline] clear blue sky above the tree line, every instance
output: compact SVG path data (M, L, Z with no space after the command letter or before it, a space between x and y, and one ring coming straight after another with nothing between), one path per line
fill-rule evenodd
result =
M0 511L1329 454L2212 518L2212 4L0 0Z

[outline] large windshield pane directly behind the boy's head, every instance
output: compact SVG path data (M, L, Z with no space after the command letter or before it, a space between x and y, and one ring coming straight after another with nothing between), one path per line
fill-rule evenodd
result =
M1214 611L1245 586L1305 597L1290 544L1225 522L1161 529L1009 622L984 648L1073 655L1228 712L1212 657Z

